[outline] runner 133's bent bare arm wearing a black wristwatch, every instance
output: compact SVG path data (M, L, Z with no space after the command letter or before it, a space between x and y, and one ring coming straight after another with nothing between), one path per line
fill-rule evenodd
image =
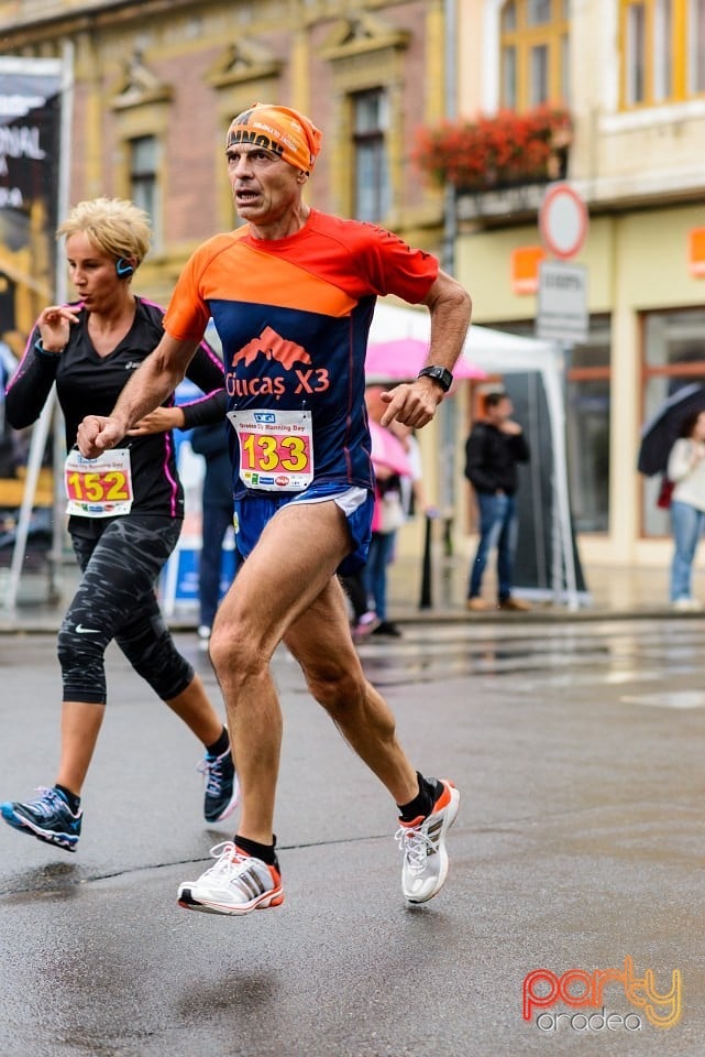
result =
M431 340L426 366L444 368L452 373L470 327L470 294L452 275L439 271L422 304L431 316ZM426 426L433 418L444 394L445 388L441 382L429 375L397 385L382 394L382 400L387 404L382 425L387 426L397 418L414 429Z

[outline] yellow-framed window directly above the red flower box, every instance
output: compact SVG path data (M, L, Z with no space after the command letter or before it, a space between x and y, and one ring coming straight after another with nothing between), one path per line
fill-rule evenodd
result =
M503 107L566 102L568 0L506 0L500 15Z

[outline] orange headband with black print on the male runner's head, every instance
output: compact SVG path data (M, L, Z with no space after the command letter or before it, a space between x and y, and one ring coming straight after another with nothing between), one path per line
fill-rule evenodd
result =
M298 110L255 102L232 120L225 148L253 143L278 154L295 168L309 173L321 149L322 138L320 129Z

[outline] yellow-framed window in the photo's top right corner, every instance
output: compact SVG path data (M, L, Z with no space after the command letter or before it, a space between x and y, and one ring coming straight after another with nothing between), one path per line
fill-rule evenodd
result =
M705 0L621 0L621 105L705 94Z

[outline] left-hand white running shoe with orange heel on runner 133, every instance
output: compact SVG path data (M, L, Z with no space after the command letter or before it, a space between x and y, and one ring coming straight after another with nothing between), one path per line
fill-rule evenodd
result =
M232 841L210 850L216 863L198 881L184 881L178 889L178 905L206 914L250 914L284 903L278 867L253 859Z

